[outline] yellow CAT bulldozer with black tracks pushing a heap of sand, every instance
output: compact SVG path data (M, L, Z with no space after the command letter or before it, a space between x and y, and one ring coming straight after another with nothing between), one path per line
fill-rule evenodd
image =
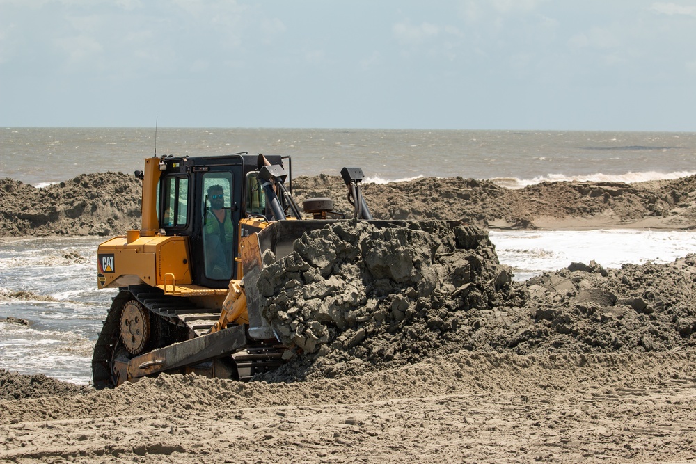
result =
M287 170L285 165L287 164ZM141 229L100 243L97 286L118 289L95 344L97 389L160 373L246 381L287 359L260 313L264 256L329 221L373 221L363 172L343 168L352 213L292 198L292 160L248 152L145 159ZM287 184L287 186L286 186ZM351 217L349 217L351 216Z

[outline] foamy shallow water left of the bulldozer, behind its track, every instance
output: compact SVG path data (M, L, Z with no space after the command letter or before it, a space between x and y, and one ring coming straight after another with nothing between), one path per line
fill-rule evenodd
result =
M98 290L103 239L0 238L0 369L87 383L113 290Z

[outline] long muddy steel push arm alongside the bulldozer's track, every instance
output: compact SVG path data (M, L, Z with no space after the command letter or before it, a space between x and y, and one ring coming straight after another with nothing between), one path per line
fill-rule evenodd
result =
M246 346L244 326L229 327L132 358L127 366L128 379L222 358L239 351L244 346Z

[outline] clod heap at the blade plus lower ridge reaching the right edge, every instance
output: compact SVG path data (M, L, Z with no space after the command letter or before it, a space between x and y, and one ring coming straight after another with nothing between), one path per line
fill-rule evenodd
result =
M258 285L301 353L267 381L332 378L468 351L643 352L696 345L696 255L606 271L574 263L512 282L487 234L420 221L336 223L296 241Z

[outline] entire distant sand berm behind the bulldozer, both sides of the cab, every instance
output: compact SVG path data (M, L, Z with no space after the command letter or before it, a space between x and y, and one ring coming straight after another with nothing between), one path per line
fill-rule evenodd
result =
M340 177L298 177L298 204L333 198L349 216ZM511 190L461 177L364 184L374 218L464 221L484 228L696 226L696 176L673 181L544 182ZM0 234L116 235L140 228L141 182L123 173L83 174L42 189L0 179Z

